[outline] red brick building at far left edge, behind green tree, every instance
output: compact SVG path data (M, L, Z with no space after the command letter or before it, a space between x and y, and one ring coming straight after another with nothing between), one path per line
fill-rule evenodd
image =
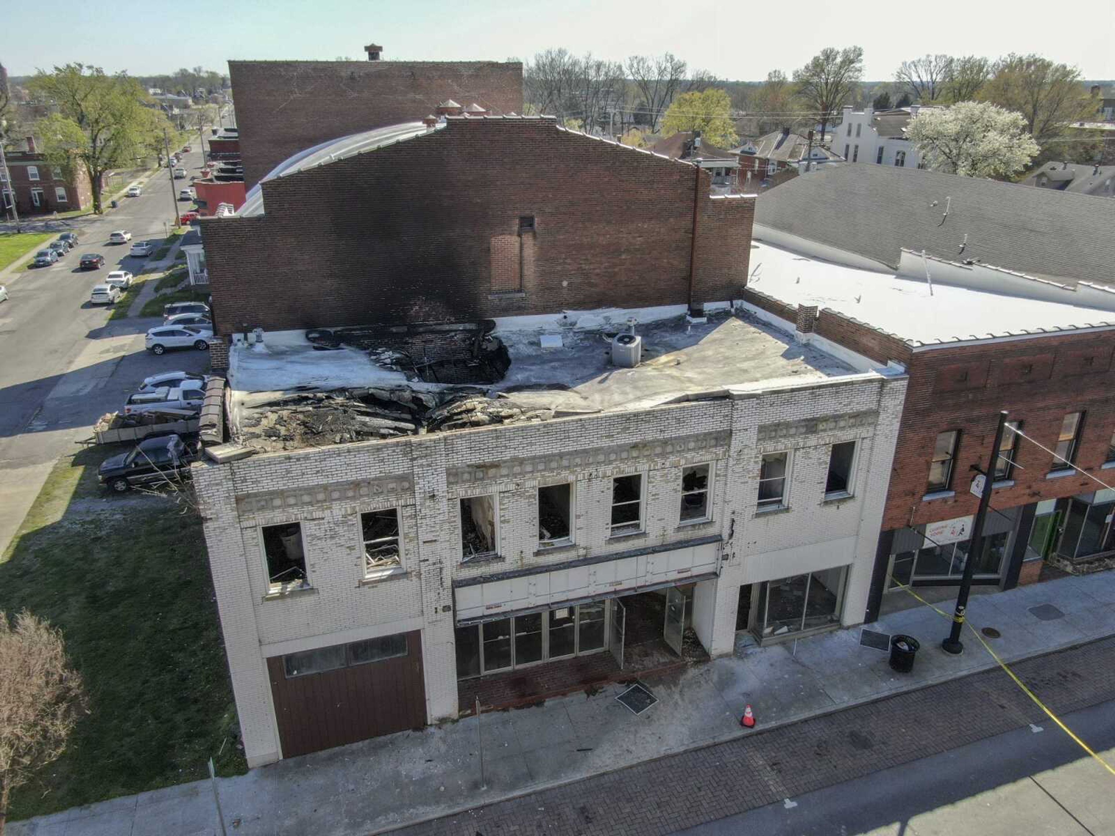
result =
M93 188L81 167L50 165L37 150L35 137L27 137L20 150L6 150L4 157L11 183L0 184L3 210L14 201L20 217L29 217L93 205ZM0 172L0 179L2 177Z

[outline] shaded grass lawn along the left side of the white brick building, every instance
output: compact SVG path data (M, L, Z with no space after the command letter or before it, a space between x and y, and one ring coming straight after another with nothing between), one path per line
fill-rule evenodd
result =
M246 769L201 522L172 498L107 494L97 465L118 451L59 459L0 557L0 610L59 628L88 696L13 819L196 780L211 756Z

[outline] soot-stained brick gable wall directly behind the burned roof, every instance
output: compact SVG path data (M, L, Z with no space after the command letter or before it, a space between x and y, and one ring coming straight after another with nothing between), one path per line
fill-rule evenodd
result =
M454 118L264 183L263 216L203 220L217 330L686 304L694 172L549 119ZM738 298L754 198L706 175L698 206L696 301ZM523 216L522 291L498 292L493 239Z

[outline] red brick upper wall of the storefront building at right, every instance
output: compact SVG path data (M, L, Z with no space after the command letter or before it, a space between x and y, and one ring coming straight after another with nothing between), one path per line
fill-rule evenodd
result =
M1076 464L1112 483L1112 472L1101 465L1115 431L1113 348L1115 331L1098 331L913 352L883 529L976 513L969 466L987 466L1000 409L1050 449L1065 414L1085 411ZM956 496L922 502L937 434L949 429L961 430L951 486ZM992 507L1098 487L1079 475L1047 479L1053 457L1025 439L1017 464L1014 486L996 488Z

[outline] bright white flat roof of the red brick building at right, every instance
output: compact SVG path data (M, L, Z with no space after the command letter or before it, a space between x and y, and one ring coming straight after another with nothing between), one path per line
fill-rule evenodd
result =
M912 346L1115 327L1115 313L1082 305L876 273L766 243L752 250L747 285L788 304L815 304ZM933 264L930 264L932 275Z

